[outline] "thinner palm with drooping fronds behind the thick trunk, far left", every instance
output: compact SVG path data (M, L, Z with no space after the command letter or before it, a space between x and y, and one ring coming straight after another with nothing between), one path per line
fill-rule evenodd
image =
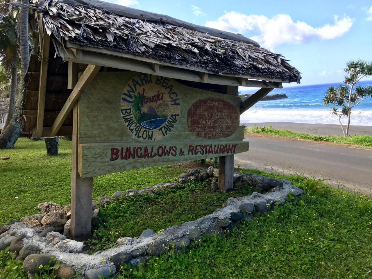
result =
M0 19L0 57L1 95L9 90L6 94L9 96L9 110L2 130L4 131L13 117L17 92L17 65L19 56L15 13L9 13L9 15L3 16Z

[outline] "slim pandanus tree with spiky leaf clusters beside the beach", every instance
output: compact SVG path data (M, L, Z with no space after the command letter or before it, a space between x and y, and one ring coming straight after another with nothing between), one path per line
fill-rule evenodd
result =
M345 137L349 135L352 109L365 99L372 97L372 86L362 86L357 83L364 77L372 76L372 62L362 60L349 61L344 69L344 84L337 87L328 87L323 99L323 105L332 106L331 113L338 116L342 132ZM346 128L341 117L347 117Z

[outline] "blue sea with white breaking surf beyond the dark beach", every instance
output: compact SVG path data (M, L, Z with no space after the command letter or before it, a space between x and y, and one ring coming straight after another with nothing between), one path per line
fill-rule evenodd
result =
M260 101L240 116L240 122L299 122L339 124L337 116L330 114L331 107L323 106L324 94L329 86L340 83L315 84L274 89L270 94L286 94L288 98ZM372 85L372 80L360 81L361 85ZM247 87L245 87L247 88ZM241 87L240 87L241 89ZM257 89L241 90L241 94L251 94ZM341 121L345 124L346 117ZM351 125L372 126L372 98L364 100L352 110Z

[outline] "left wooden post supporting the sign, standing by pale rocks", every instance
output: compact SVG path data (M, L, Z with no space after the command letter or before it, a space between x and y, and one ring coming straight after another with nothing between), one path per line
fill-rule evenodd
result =
M71 225L73 239L90 237L92 227L93 177L81 178L78 173L78 102L73 110L73 140L71 161Z

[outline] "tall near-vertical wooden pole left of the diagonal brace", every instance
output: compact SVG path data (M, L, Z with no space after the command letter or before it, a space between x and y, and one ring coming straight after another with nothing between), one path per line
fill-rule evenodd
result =
M42 137L44 125L45 92L47 91L48 61L50 36L45 31L41 49L41 67L39 76L38 116L36 119L36 136Z

